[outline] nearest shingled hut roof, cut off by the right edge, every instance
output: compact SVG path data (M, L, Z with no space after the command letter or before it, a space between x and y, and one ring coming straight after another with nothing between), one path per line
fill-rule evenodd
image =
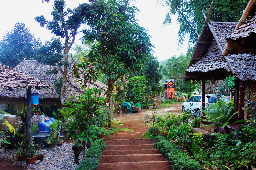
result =
M256 81L256 0L250 0L223 51L232 73L240 80Z

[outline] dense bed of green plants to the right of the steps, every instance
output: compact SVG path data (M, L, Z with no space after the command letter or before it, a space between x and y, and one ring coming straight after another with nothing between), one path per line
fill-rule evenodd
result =
M256 107L251 101L253 94L248 93L248 95L245 108L248 109L250 118L237 121L244 124L240 124L240 128L234 133L191 133L192 126L195 127L195 125L194 122L188 121L191 115L184 112L175 118L167 115L159 117L155 113L156 122L160 120L165 122L167 119L170 119L169 122L174 122L168 126L168 135L159 133L161 126L150 126L143 136L158 141L155 147L171 162L173 170L200 170L204 167L221 170L252 170L256 166ZM223 107L221 104L219 106ZM228 122L227 115L233 115L229 114L231 107L232 103L228 104L227 108L223 108L225 114L222 117L227 119L222 121L221 126ZM217 116L218 119L222 117Z

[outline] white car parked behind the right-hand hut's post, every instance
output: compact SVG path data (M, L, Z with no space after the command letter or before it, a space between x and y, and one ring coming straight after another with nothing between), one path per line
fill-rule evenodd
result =
M205 107L209 106L212 103L219 101L220 99L228 102L224 95L220 94L206 94L205 95ZM191 106L191 108L190 108ZM191 115L195 115L196 117L200 116L202 112L202 94L196 94L186 100L181 107L182 112L191 111Z

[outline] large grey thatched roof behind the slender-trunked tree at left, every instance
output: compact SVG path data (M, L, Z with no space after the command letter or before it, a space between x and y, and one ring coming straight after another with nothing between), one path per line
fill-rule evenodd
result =
M74 73L72 72L72 68L74 67L74 63L72 62L71 65L68 67L68 83L67 83L67 90L65 92L64 99L67 100L68 97L73 96L79 96L78 94L81 91L81 85L79 82L76 82L76 77L74 76ZM62 75L60 73L54 75L54 74L47 74L46 72L49 70L53 69L53 66L49 65L43 65L41 63L38 63L35 60L28 60L28 61L22 61L20 62L15 69L20 70L29 76L33 78L37 78L39 80L42 80L45 82L48 86L48 90L41 90L39 92L39 98L44 99L44 98L52 98L56 99L58 98L58 94L56 93L55 88L53 87L52 83L56 82ZM102 85L103 83L97 81L95 82L92 86L93 87L100 87L100 86L106 86ZM91 85L89 85L89 88ZM32 90L32 92L36 92ZM14 92L8 92L8 91L0 91L0 96L8 96L8 97L24 97L26 98L26 91L25 90L14 90Z

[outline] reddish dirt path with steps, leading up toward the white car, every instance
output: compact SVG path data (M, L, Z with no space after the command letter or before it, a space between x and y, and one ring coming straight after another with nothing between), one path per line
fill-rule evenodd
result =
M103 151L100 166L97 170L167 170L171 165L164 156L153 149L155 140L147 140L141 135L148 131L148 126L140 122L145 114L152 115L150 109L140 110L139 113L124 113L116 115L117 120L122 119L124 128L134 129L132 131L121 131L105 138L107 148ZM181 104L172 107L159 108L157 113L164 115L166 112L181 113Z

